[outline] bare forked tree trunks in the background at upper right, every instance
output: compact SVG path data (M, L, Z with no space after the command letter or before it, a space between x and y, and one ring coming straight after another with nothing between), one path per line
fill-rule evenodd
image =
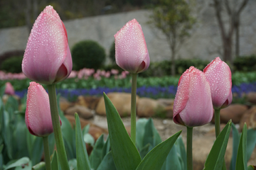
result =
M235 32L235 55L239 56L239 27L240 13L249 0L213 0L215 16L220 28L221 40L223 42L223 60L232 63L233 33ZM228 16L228 22L224 21ZM228 26L227 26L228 25Z

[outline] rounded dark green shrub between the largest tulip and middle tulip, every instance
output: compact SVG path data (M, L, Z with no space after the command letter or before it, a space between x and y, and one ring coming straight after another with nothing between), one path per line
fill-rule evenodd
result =
M74 45L72 51L73 69L99 69L105 62L105 49L93 40L84 40Z

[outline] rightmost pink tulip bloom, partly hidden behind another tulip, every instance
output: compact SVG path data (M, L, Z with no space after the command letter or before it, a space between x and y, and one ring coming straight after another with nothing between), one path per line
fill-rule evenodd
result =
M210 92L215 109L225 108L232 102L232 80L228 64L215 58L203 69L210 83Z

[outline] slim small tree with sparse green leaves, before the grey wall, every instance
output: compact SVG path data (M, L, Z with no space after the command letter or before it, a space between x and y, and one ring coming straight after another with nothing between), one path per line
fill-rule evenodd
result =
M153 8L149 23L166 36L171 50L171 75L174 76L176 53L196 23L191 16L191 8L185 0L160 0L159 5Z

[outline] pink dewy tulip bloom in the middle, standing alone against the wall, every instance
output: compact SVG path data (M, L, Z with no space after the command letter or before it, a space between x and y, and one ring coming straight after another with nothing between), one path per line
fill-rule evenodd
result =
M149 67L149 52L142 27L133 19L114 35L117 65L131 73L144 72Z

